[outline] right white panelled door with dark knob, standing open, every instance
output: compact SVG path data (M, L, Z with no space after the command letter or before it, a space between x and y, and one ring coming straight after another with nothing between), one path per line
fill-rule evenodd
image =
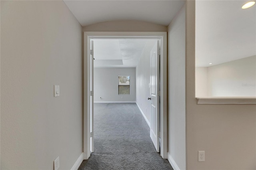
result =
M150 138L154 143L156 151L159 152L159 58L160 58L159 41L156 42L152 50L150 51Z

